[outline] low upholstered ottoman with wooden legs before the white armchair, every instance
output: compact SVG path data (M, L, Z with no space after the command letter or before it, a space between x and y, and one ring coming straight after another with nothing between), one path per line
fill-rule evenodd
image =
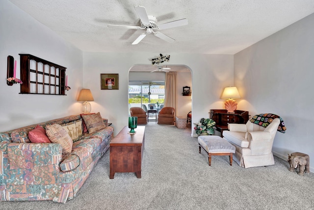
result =
M232 155L235 153L235 146L220 136L199 136L197 141L199 153L201 153L201 147L208 153L209 166L212 155L229 155L230 165L232 166Z

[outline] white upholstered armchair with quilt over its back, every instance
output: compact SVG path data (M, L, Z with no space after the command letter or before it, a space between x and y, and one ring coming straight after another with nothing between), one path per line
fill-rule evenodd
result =
M223 132L223 138L235 146L235 162L245 168L274 165L271 150L279 124L279 118L266 128L250 120L246 124L230 123L229 131Z

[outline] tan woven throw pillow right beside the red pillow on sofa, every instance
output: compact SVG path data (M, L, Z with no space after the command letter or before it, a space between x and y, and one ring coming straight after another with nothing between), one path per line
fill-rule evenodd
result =
M62 154L69 154L72 151L72 139L68 132L59 124L46 126L46 134L52 143L62 146Z

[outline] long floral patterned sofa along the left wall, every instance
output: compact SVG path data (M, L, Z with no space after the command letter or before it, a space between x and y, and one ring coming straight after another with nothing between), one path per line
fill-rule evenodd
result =
M113 138L113 127L107 126L107 120L102 118L102 129L83 132L83 117L69 116L39 123L46 132L53 124L79 125L77 138L71 141L72 149L67 154L60 144L31 143L28 132L37 124L0 133L0 201L65 203L76 197Z

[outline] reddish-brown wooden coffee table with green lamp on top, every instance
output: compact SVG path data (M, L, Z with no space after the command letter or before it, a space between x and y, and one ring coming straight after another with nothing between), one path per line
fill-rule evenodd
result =
M135 134L129 134L129 131L125 126L110 142L110 179L116 172L134 172L141 178L145 126L137 126Z

